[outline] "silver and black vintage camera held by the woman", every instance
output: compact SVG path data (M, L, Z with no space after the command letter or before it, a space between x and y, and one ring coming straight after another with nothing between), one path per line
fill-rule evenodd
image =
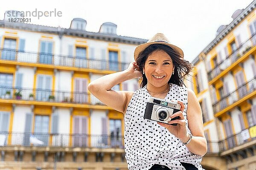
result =
M180 119L180 116L176 116L172 119L169 117L178 111L180 111L180 104L177 102L168 102L166 100L150 97L143 118L177 126L177 123L169 124L168 122Z

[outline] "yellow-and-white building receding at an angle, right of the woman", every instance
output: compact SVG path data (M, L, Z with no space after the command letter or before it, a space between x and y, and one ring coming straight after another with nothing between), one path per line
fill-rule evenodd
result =
M218 28L192 62L195 77L186 81L203 112L208 152L202 164L219 170L256 169L255 7L253 1L236 10L233 21Z

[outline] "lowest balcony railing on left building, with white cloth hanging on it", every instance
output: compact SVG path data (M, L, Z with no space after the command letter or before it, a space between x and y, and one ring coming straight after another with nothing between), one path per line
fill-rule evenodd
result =
M11 141L8 139L11 137ZM123 136L0 131L0 146L124 148Z

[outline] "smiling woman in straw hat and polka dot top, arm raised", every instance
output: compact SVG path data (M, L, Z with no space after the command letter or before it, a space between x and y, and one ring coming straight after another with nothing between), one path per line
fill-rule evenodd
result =
M184 76L192 64L183 51L163 34L154 35L138 45L134 59L125 71L108 74L88 85L89 91L106 105L125 114L125 158L129 170L203 170L202 156L207 153L202 111L194 92L183 88ZM113 91L129 79L142 77L141 88ZM180 111L169 124L143 119L149 97L176 101Z

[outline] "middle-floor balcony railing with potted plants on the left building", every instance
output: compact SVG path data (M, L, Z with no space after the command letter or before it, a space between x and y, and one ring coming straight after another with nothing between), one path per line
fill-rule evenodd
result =
M84 92L52 91L47 89L12 88L0 86L0 99L31 100L41 102L89 103L89 95ZM97 103L102 104L102 103Z

